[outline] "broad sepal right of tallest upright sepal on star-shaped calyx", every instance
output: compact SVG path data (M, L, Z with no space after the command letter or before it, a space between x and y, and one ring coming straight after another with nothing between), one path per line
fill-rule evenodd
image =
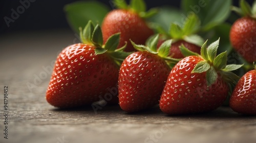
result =
M214 59L214 67L217 69L224 69L227 65L227 52L222 52Z

